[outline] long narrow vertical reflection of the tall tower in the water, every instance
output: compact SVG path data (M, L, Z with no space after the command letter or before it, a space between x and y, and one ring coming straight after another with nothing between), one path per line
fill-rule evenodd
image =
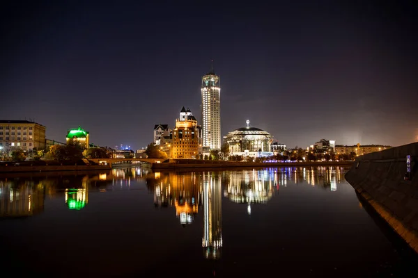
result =
M204 225L202 245L206 259L219 259L222 247L221 177L203 173Z

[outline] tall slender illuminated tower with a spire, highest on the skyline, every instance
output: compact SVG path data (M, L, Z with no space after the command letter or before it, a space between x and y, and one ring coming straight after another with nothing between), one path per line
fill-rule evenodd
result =
M202 77L203 147L221 148L221 88L219 76L213 71Z

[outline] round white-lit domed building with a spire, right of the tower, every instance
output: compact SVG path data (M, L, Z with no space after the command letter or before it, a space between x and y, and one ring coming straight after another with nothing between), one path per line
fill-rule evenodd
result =
M224 136L224 142L229 145L230 156L250 156L252 158L261 156L272 156L270 145L273 136L263 129L247 126L235 129Z

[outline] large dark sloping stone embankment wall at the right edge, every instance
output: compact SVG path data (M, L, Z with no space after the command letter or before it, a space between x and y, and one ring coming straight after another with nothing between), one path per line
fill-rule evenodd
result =
M410 155L410 174L406 156ZM418 142L359 156L346 180L418 252Z

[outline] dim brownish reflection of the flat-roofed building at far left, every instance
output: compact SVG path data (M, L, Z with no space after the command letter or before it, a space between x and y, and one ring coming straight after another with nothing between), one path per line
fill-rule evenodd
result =
M44 188L41 183L30 185L29 181L13 187L12 182L0 181L0 217L30 216L44 208Z

